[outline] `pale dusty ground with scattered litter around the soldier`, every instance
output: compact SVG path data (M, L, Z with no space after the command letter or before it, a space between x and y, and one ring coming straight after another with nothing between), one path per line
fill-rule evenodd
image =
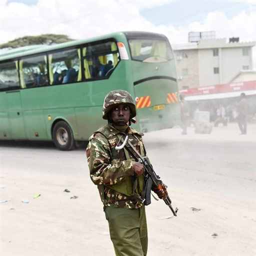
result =
M256 125L248 130L239 136L231 124L211 134L145 134L151 162L179 208L168 218L163 202L147 206L148 256L256 255ZM8 200L0 203L1 255L114 254L83 149L0 141L0 200Z

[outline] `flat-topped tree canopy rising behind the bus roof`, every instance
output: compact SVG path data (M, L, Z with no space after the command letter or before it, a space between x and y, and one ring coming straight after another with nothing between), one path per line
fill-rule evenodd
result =
M27 45L35 44L57 44L61 42L72 41L73 39L69 38L65 34L41 34L41 35L27 35L23 37L16 38L14 40L8 41L6 43L0 44L0 49L2 48L17 48Z

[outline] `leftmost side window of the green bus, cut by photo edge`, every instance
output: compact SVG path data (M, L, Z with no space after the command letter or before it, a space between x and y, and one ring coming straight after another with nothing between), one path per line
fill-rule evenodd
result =
M0 63L0 91L18 88L17 61Z

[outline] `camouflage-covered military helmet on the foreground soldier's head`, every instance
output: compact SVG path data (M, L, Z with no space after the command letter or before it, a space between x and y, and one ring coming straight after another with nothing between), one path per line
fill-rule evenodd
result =
M130 107L130 118L136 116L136 106L130 93L126 90L111 90L104 98L102 118L108 119L108 112L117 104L128 104Z

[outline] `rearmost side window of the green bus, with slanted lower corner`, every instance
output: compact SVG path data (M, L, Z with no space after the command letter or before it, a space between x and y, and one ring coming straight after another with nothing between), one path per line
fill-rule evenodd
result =
M85 79L107 78L119 61L113 41L88 45L82 49Z

